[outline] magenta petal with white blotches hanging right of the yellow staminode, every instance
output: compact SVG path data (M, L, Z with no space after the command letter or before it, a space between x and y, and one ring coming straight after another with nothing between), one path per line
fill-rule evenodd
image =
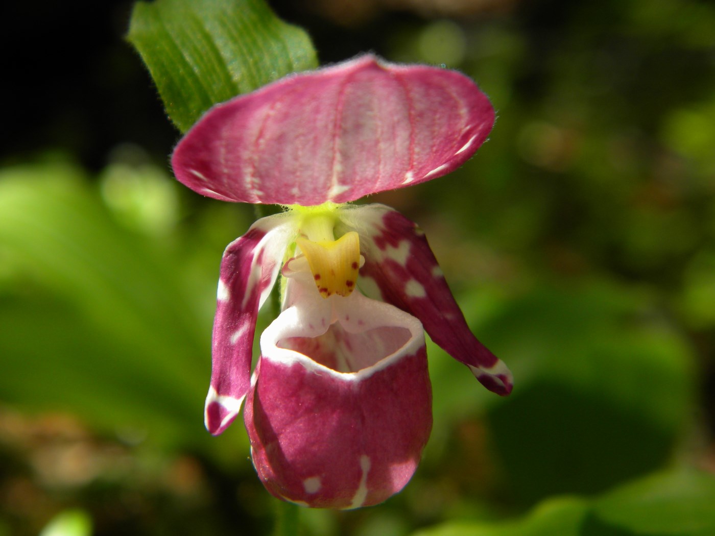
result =
M381 204L345 207L344 228L360 235L365 265L358 286L418 317L433 341L472 371L490 391L511 392L511 372L470 331L424 233ZM342 226L341 226L342 227Z

